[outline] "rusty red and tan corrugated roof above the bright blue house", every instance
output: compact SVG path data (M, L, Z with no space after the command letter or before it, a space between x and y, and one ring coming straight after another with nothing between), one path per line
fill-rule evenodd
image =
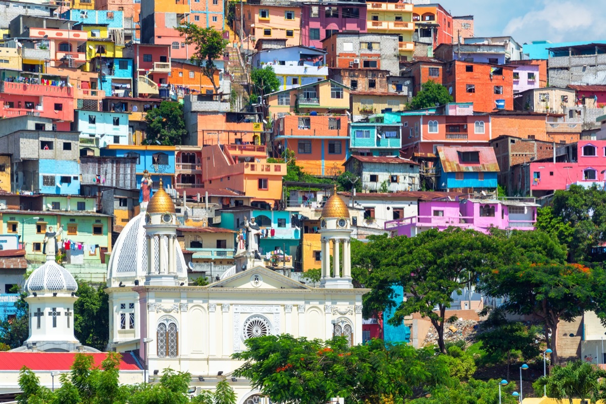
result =
M493 148L438 146L438 155L444 172L499 172L499 163ZM478 152L479 162L461 161L461 152Z

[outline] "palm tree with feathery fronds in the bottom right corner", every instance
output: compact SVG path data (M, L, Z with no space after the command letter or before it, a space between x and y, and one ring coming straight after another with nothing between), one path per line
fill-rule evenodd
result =
M577 360L568 362L565 367L554 367L549 376L540 377L533 386L537 391L546 386L547 397L558 401L568 399L572 404L573 399L598 400L601 390L599 379L602 377L606 377L606 371L592 363Z

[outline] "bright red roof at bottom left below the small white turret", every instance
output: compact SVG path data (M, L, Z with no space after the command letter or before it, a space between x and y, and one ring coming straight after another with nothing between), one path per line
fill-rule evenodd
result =
M107 353L89 353L95 359L95 366L100 367ZM70 370L75 352L0 352L0 370ZM122 354L119 370L141 370L132 353Z

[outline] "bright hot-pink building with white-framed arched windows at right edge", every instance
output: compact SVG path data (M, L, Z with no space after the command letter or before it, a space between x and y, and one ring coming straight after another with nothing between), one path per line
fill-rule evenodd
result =
M576 161L575 161L576 160ZM531 195L550 194L571 184L603 188L606 182L606 140L579 140L570 163L530 163Z

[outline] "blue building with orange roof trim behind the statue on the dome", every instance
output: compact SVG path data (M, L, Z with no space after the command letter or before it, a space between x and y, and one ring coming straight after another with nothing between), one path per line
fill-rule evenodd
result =
M175 146L123 146L107 145L100 150L102 156L136 157L137 184L141 184L143 171L151 174L152 188L158 189L162 178L164 187L173 187L175 178Z

